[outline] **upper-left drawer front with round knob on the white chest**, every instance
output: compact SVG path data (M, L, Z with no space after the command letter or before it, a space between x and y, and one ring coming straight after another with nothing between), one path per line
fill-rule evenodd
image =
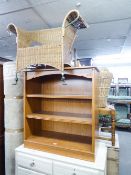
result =
M26 155L23 153L17 153L16 158L18 166L52 175L52 161L49 159Z

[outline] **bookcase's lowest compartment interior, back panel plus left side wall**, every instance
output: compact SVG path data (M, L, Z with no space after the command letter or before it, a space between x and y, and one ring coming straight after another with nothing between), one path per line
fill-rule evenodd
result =
M30 135L41 135L44 131L53 131L65 134L80 135L91 137L91 125L81 125L74 123L62 123L54 121L42 121L35 119L27 119L30 122Z

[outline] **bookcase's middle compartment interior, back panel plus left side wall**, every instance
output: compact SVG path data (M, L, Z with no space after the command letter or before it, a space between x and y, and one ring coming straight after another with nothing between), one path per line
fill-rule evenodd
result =
M91 100L28 98L26 101L26 110L28 114L62 112L64 115L66 115L66 113L88 115L92 112L91 104Z

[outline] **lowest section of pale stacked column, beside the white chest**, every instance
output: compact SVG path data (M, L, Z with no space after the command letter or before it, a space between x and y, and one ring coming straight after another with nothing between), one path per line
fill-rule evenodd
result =
M5 172L15 175L15 148L23 143L23 132L5 132Z

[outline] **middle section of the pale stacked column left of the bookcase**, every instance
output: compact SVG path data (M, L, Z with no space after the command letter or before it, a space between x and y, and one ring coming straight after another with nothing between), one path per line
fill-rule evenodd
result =
M5 128L23 129L23 99L4 99Z

